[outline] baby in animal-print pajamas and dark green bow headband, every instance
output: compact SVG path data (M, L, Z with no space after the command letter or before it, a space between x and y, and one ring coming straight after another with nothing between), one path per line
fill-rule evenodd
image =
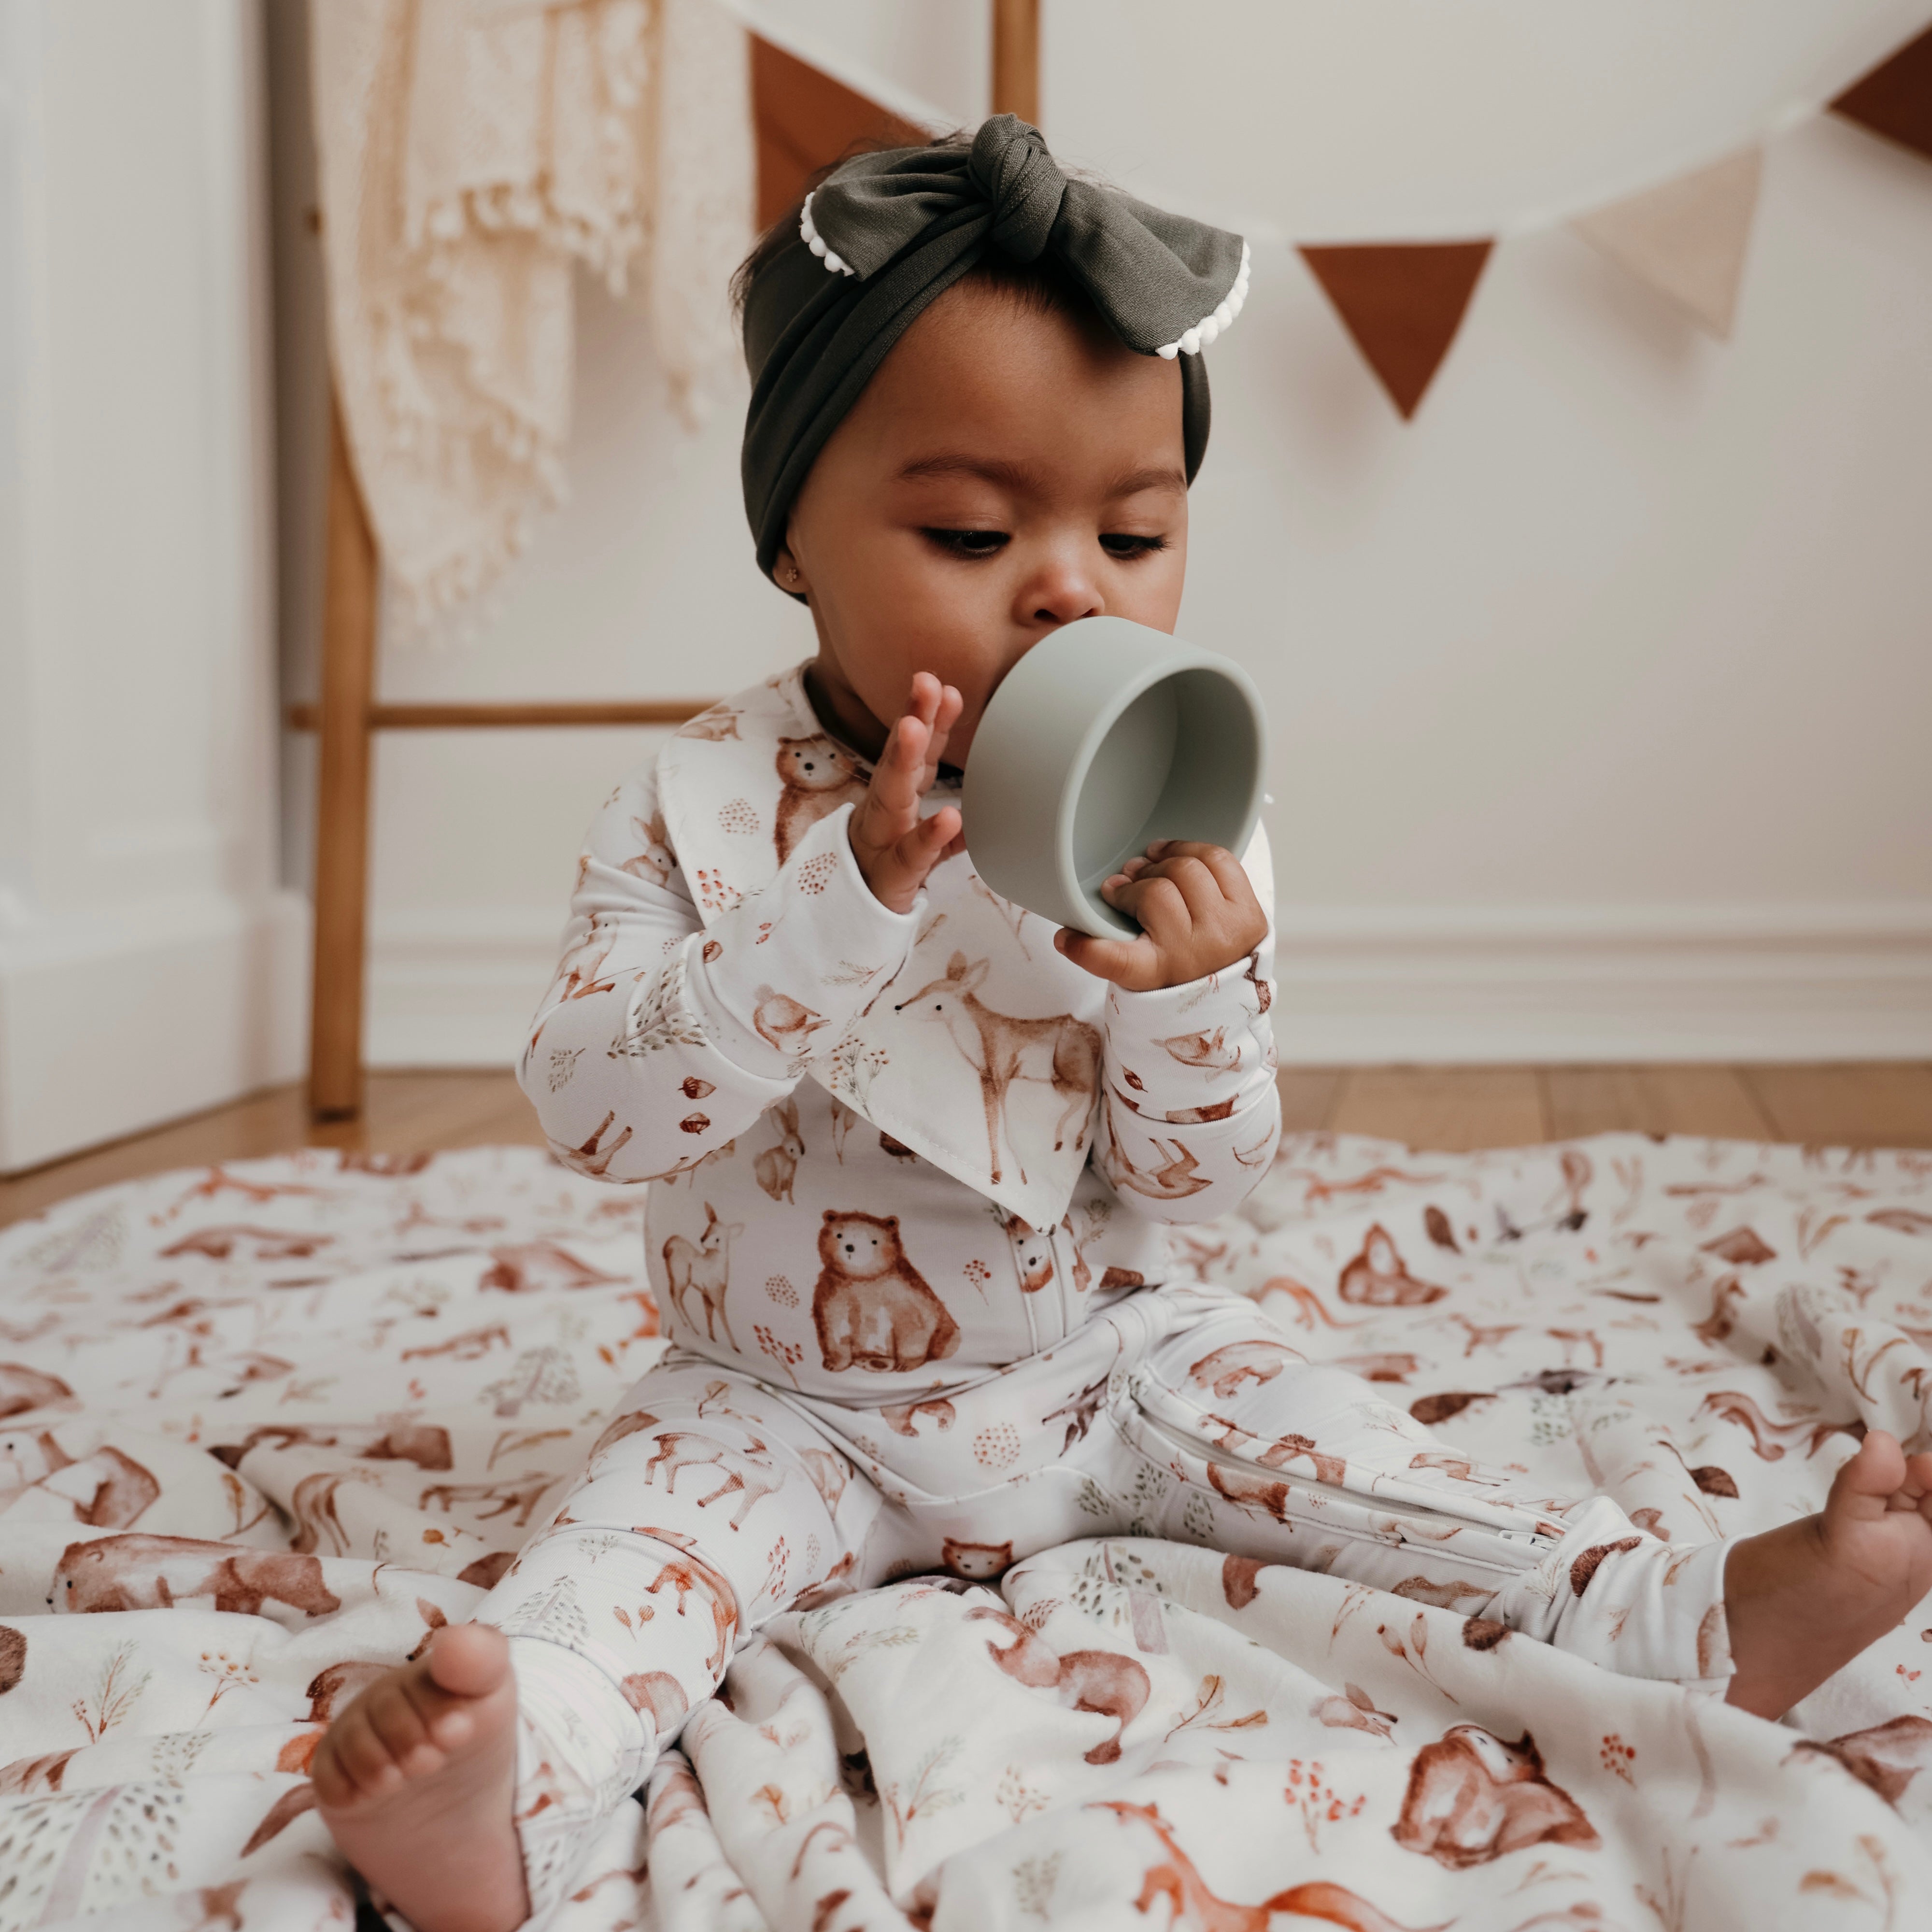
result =
M477 1609L315 1754L421 1932L554 1907L734 1646L920 1571L1184 1538L1779 1716L1932 1586L1932 1457L1866 1435L1822 1517L1671 1548L1445 1455L1246 1300L1171 1279L1279 1132L1265 842L1053 931L962 844L987 699L1055 626L1171 630L1235 238L1068 180L1001 116L844 162L740 276L759 564L817 655L611 796L522 1084L645 1202L670 1350Z

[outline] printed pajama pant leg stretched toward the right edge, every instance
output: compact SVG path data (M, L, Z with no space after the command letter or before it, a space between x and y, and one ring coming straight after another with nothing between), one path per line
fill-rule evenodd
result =
M1157 1534L1490 1619L1625 1677L1718 1690L1731 1673L1725 1544L1665 1544L1607 1495L1488 1468L1246 1304L1155 1343L1117 1426L1179 1478Z

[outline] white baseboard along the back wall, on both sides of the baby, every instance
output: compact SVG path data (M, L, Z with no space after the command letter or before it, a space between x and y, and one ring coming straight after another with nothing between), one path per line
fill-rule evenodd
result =
M549 908L386 916L377 1066L508 1066ZM1283 1065L1932 1059L1932 904L1294 908Z

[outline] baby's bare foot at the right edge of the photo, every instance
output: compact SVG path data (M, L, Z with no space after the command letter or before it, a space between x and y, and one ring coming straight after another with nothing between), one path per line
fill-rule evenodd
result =
M1781 1718L1932 1590L1932 1455L1874 1430L1824 1513L1737 1544L1723 1571L1725 1702Z

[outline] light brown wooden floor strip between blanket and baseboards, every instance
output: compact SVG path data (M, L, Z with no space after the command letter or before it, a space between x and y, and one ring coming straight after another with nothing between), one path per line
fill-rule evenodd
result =
M1932 1148L1932 1065L1832 1066L1318 1066L1281 1076L1291 1130L1378 1134L1461 1151L1634 1128L1851 1148ZM110 1180L284 1148L541 1144L506 1072L369 1076L363 1119L313 1126L299 1088L0 1180L0 1227Z

